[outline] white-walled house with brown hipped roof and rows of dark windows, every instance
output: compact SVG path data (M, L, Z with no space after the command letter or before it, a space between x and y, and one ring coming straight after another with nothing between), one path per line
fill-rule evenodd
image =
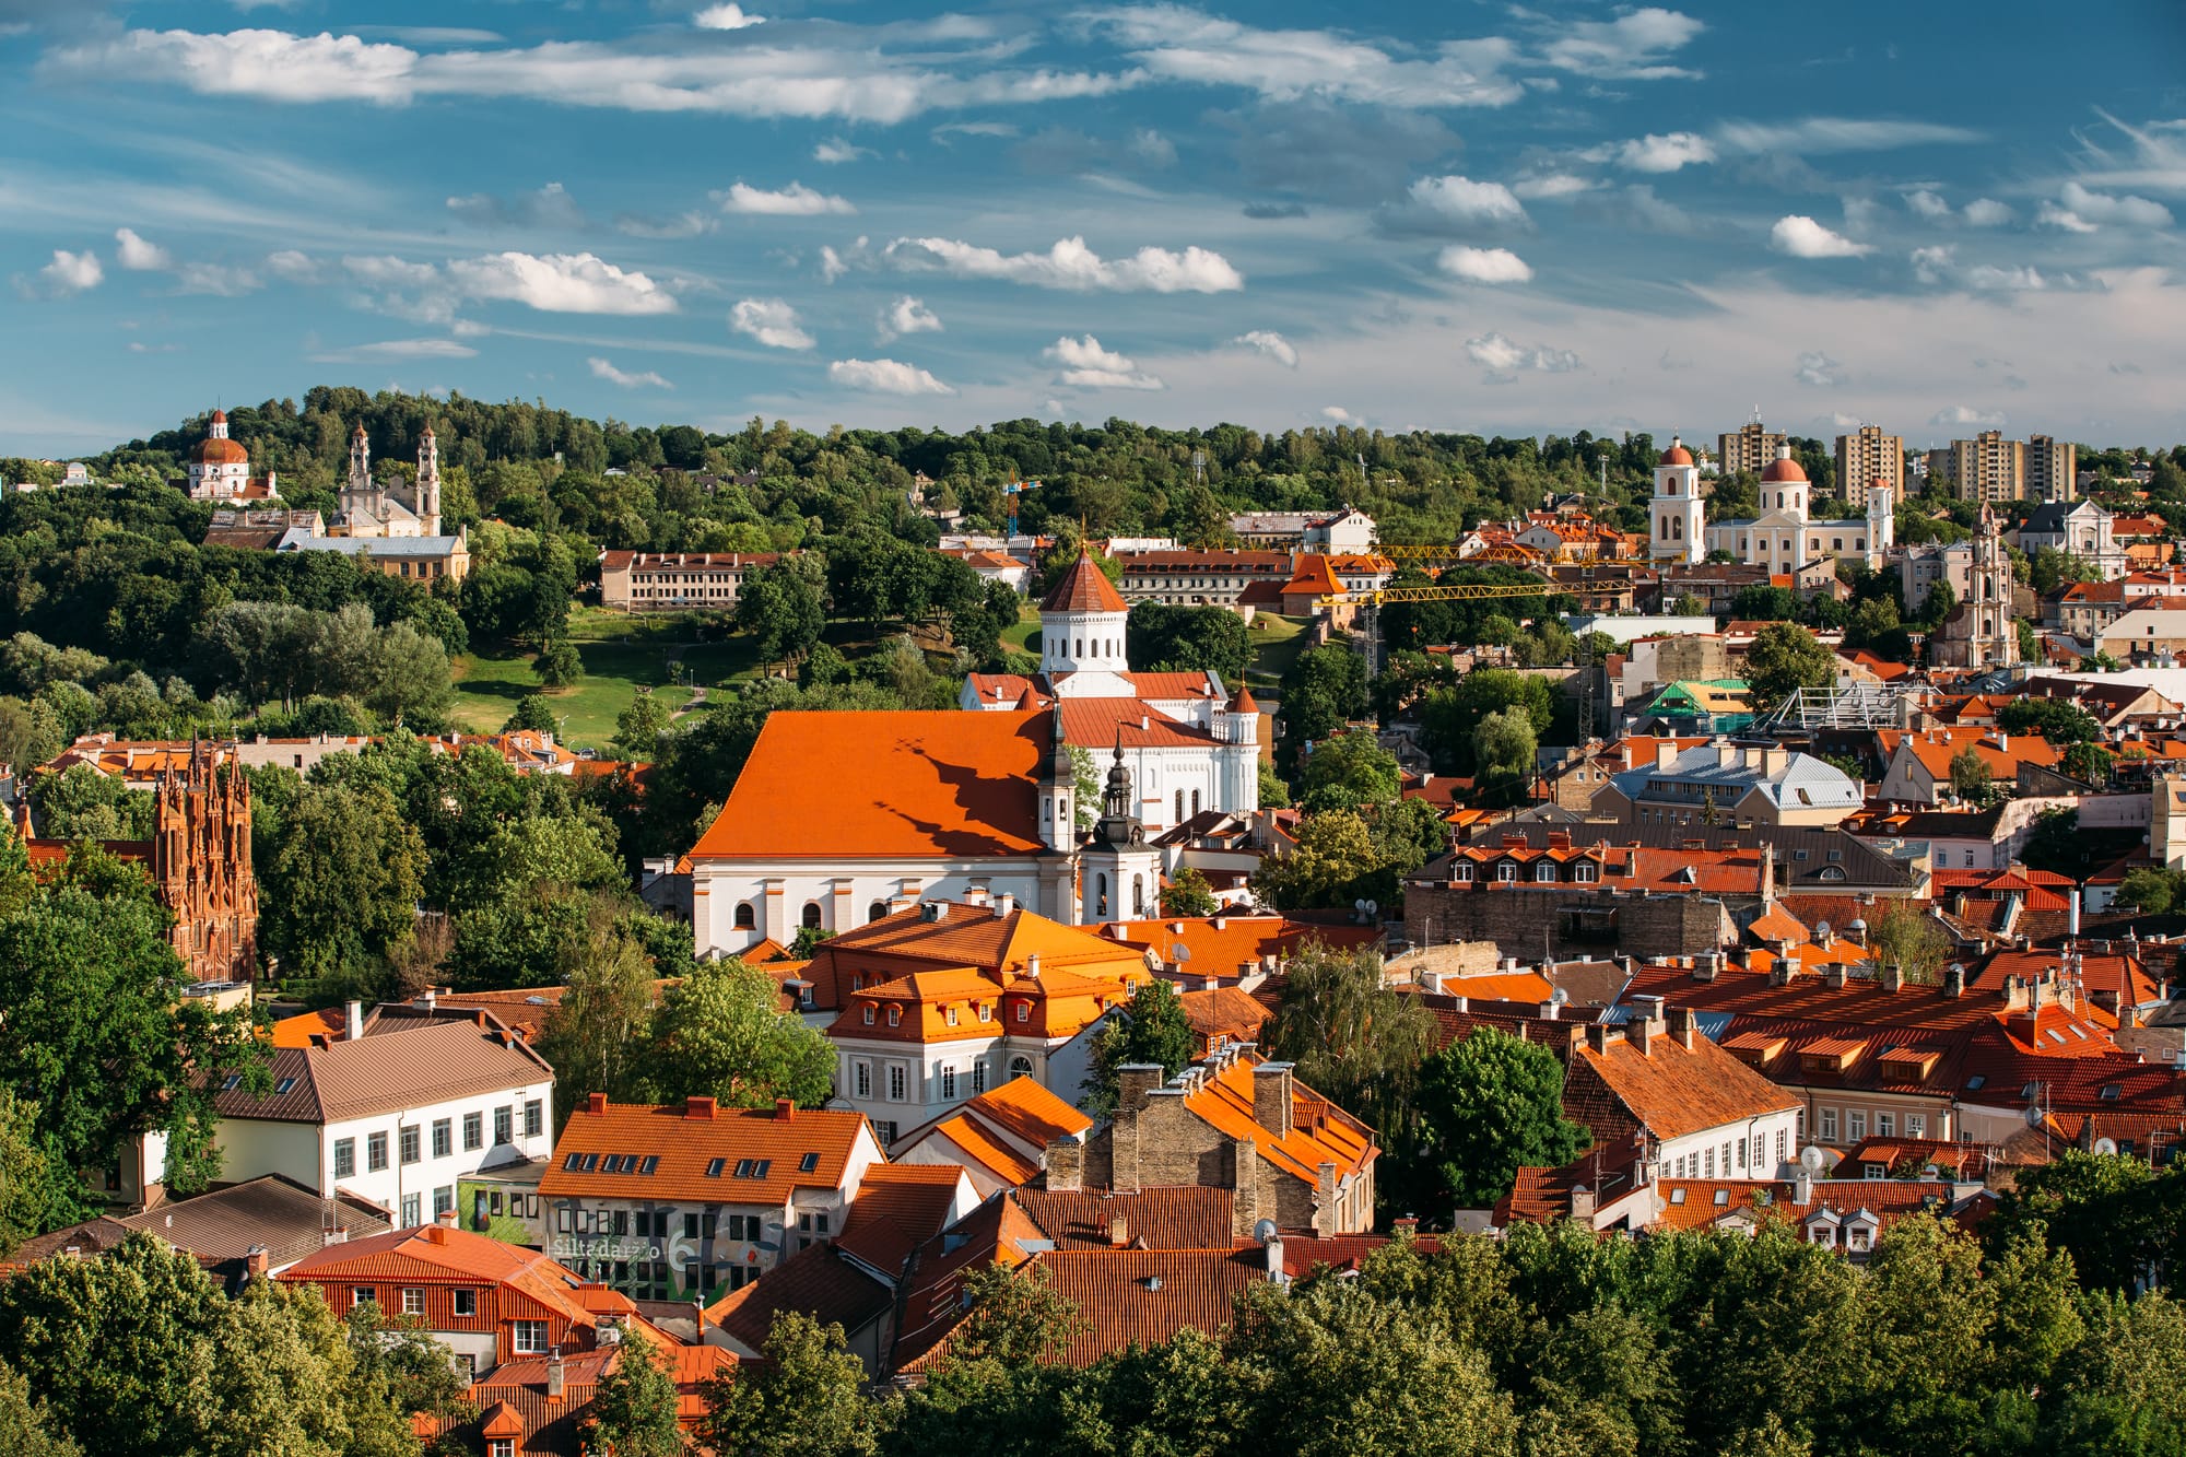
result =
M271 1076L262 1098L240 1079L214 1089L221 1177L284 1175L367 1199L398 1229L453 1212L459 1179L553 1151L553 1068L490 1013L319 1035L278 1048ZM144 1166L164 1162L162 1140L146 1138Z

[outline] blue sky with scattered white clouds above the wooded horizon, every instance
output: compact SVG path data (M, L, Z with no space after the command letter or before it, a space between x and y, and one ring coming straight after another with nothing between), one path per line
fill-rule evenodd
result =
M2186 11L0 0L0 453L634 422L2186 438Z

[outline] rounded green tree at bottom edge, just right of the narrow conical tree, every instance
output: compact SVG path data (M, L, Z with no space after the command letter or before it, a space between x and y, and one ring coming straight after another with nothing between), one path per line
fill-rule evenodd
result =
M892 1407L863 1394L866 1365L842 1326L774 1317L761 1361L708 1380L697 1444L719 1457L870 1457Z

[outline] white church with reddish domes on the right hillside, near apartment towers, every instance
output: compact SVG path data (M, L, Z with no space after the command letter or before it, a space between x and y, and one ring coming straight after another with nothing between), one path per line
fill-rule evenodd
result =
M1712 523L1692 451L1672 435L1655 466L1648 558L1692 564L1712 551L1727 551L1733 562L1782 573L1832 558L1880 567L1897 540L1895 492L1880 481L1869 486L1862 521L1810 521L1808 492L1806 470L1790 457L1790 446L1777 446L1777 457L1762 470L1760 514L1751 521Z

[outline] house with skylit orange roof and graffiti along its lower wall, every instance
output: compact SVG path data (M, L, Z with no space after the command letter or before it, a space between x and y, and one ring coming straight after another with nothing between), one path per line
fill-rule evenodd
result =
M540 1175L546 1249L636 1299L713 1299L842 1229L883 1162L863 1114L590 1094Z

